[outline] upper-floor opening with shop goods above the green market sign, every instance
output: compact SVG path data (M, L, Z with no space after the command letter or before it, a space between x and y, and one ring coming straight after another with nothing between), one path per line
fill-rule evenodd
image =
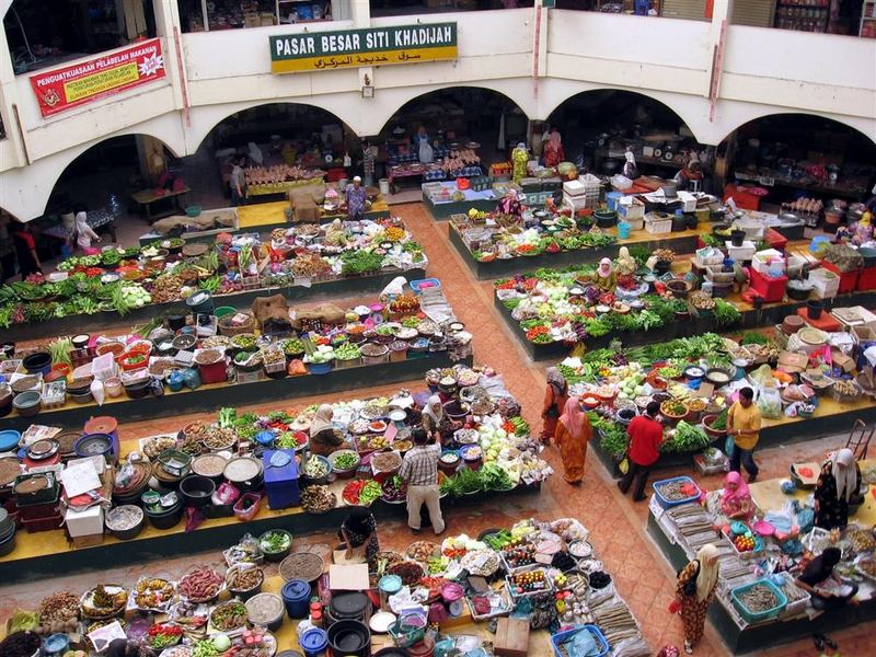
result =
M356 0L178 0L183 32L322 23L350 18Z

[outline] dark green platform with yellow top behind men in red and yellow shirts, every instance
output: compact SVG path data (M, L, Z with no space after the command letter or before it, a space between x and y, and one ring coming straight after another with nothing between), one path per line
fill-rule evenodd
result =
M863 396L856 402L840 403L829 396L819 397L818 410L812 417L782 417L781 419L762 420L758 448L779 447L792 445L803 440L812 440L830 436L852 428L856 419L866 424L876 422L876 401ZM713 442L713 447L724 451L724 438ZM596 453L606 470L614 476L620 476L618 464L610 453L604 452L599 443L599 436L593 435L590 449ZM700 453L699 451L695 453ZM661 454L654 470L677 469L679 466L693 468L693 452ZM752 484L752 492L756 485ZM873 522L871 523L873 525Z

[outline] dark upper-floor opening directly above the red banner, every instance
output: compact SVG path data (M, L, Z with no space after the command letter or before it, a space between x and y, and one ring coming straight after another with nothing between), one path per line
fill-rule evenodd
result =
M14 0L3 16L15 73L155 36L152 0Z

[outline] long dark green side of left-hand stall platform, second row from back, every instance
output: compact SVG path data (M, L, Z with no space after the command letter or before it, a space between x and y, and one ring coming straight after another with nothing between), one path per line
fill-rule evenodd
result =
M451 367L456 364L472 365L472 356L451 360L448 351L429 353L423 358L408 358L380 365L360 365L333 369L326 374L302 374L285 379L265 379L252 383L207 383L197 390L165 391L161 396L107 399L103 406L94 402L77 404L68 401L58 408L42 411L34 417L22 417L18 412L0 419L0 430L24 431L33 422L49 426L82 426L95 415L112 415L119 422L135 422L154 417L170 417L186 413L215 411L234 404L262 404L299 396L326 394L341 390L368 388L374 381L393 383L423 377L431 368Z

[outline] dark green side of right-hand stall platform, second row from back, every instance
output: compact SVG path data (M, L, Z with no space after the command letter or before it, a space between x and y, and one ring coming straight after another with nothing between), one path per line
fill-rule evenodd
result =
M540 253L534 256L515 256L507 260L496 258L491 262L479 262L474 258L472 250L465 244L456 223L450 221L447 226L450 243L469 265L472 274L479 280L514 276L521 272L530 272L541 267L569 267L574 265L595 264L603 257L614 260L621 246L639 246L654 251L655 249L671 249L676 253L693 253L696 251L696 240L701 231L696 229L653 235L646 230L635 230L626 240L618 240L610 246L576 249L574 251L560 251L557 253ZM618 237L618 229L604 230L607 234Z

